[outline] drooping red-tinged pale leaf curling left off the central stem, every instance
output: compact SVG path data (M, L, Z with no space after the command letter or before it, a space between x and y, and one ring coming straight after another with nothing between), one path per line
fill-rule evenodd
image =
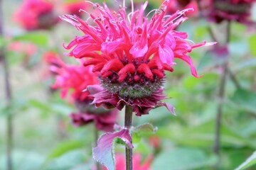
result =
M108 132L100 137L97 147L92 149L93 158L104 164L108 170L114 170L113 144L116 138L121 139L127 147L132 148L132 136L129 130L123 129L118 132Z

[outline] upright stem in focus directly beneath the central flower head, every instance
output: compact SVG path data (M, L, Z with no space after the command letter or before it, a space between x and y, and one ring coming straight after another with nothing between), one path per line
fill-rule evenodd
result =
M124 126L129 130L132 127L132 107L131 106L125 106ZM125 147L125 159L126 159L126 170L132 170L132 148Z

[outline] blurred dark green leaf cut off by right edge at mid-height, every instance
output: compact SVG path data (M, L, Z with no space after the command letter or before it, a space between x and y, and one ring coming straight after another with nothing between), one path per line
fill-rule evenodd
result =
M245 89L238 89L233 96L233 102L247 111L256 111L256 92Z

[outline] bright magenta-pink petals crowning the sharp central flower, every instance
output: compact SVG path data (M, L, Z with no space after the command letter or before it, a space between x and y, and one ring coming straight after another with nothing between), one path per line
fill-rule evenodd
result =
M128 68L125 67L128 64L134 67L146 64L150 72L145 72L144 69L143 74L147 77L151 77L151 74L162 77L163 75L159 72L173 71L175 57L187 62L193 76L198 77L188 53L195 47L209 44L206 42L191 44L191 41L187 40L186 32L175 30L187 19L183 17L183 13L193 11L192 8L165 16L168 4L169 1L164 1L161 7L155 10L150 20L144 16L147 2L128 16L125 7L112 12L106 4L104 6L94 4L101 16L94 16L91 13L90 17L97 26L90 26L78 16L62 16L63 20L72 23L78 30L85 33L81 37L76 37L65 47L66 49L73 47L68 55L90 58L85 65L94 65L94 71L99 71L102 77L108 77L111 72L117 72L118 76L122 77L119 81L125 79L125 71L132 72L133 69L127 70Z

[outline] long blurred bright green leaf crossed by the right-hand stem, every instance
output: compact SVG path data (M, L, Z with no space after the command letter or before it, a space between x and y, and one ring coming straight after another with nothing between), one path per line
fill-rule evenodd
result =
M208 147L213 144L214 134L215 134L215 121L209 120L204 123L200 123L196 126L189 126L180 129L173 130L170 133L168 128L159 128L157 135L161 137L167 137L173 142L180 145L187 145L191 147ZM228 125L221 126L221 146L235 146L235 147L252 147L255 148L255 142L252 142L249 138L244 135L240 135L237 130L232 130ZM184 137L186 136L186 137Z

